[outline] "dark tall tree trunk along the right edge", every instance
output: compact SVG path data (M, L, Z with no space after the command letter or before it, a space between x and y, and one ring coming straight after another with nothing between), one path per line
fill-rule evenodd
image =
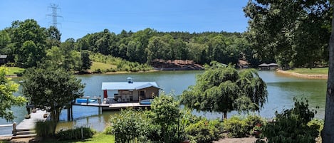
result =
M332 18L332 33L329 42L329 57L325 125L321 133L323 143L334 142L334 12Z

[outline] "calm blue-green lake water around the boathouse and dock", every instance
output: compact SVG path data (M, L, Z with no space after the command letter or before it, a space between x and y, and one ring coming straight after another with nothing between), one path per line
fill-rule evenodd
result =
M196 75L203 71L162 71L152 73L127 73L127 74L111 74L111 75L77 75L85 83L85 96L103 96L101 85L103 82L122 82L131 77L134 82L138 81L155 81L163 89L169 93L174 92L174 95L182 94L182 91L187 90L189 85L194 85ZM281 112L283 109L293 107L293 97L306 97L309 101L310 108L317 109L318 118L324 117L325 112L325 90L327 80L303 79L294 78L288 75L282 75L273 71L259 71L260 77L266 82L268 90L268 102L264 105L259 115L272 118L275 111ZM14 78L17 82L20 78ZM16 93L17 95L18 93ZM26 115L25 107L13 107L16 119L14 121L21 122ZM98 112L98 107L80 107L73 106L73 122L67 122L67 112L61 114L61 123L58 129L66 129L68 127L88 126L102 131L110 115L115 112ZM209 119L221 118L220 113L196 112L195 115L202 115ZM237 112L229 112L227 115L236 115ZM0 120L0 125L8 124L5 120ZM0 128L0 134L10 134L11 127Z

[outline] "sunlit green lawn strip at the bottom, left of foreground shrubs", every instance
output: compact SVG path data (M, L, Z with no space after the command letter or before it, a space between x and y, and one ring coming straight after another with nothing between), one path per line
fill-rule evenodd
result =
M58 143L104 143L104 142L115 142L115 137L112 135L104 134L103 132L99 132L90 139L83 139L83 140L70 140L70 141L57 141L56 139L45 139L41 143L51 143L51 142L58 142ZM1 142L0 142L1 143Z

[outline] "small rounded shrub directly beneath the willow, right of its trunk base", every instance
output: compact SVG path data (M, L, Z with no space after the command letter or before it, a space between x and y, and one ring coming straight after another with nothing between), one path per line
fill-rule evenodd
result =
M249 134L249 125L241 117L233 116L226 119L223 125L229 137L246 137Z

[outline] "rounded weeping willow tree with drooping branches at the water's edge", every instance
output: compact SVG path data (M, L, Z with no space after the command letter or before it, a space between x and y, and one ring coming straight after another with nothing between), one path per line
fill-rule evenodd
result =
M266 84L255 70L238 72L231 65L214 62L197 76L195 85L184 90L180 100L191 109L222 112L226 119L232 110L261 110L267 96Z

